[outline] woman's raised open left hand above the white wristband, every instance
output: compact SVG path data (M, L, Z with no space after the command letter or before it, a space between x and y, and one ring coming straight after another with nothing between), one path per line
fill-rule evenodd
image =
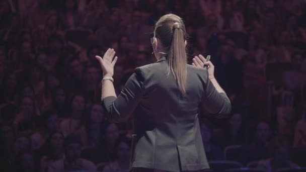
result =
M96 55L96 58L99 60L100 65L102 67L103 70L103 76L109 76L109 77L113 77L114 75L114 66L117 62L118 57L116 56L114 58L115 55L115 51L114 49L108 49L106 51L106 53L104 54L103 58Z

